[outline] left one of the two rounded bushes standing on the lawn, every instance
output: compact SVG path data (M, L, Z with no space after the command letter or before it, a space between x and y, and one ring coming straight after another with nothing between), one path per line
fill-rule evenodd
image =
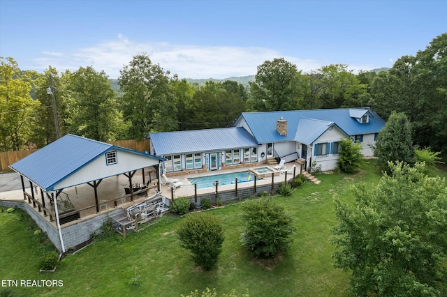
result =
M217 264L222 251L222 220L210 213L186 215L177 229L180 246L192 252L198 266L210 270Z

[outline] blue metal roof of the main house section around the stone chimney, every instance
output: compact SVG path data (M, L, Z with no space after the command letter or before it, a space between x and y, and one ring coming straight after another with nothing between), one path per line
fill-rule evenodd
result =
M360 108L358 109L360 110ZM369 118L369 123L359 123L356 119L353 119L350 110L349 108L341 108L291 110L284 112L243 112L241 117L245 120L259 144L294 141L298 135L298 125L301 119L314 119L335 123L347 135L377 133L385 125L385 121L371 109L362 109L372 115ZM276 130L277 120L281 116L287 121L287 135L285 136L279 135ZM314 133L312 129L316 127L307 125L306 123L305 126L308 126L308 133ZM304 130L300 129L300 135L301 131L304 132ZM309 136L310 138L312 137Z

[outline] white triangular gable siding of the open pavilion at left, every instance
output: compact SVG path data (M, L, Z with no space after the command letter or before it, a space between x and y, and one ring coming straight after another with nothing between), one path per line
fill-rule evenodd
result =
M78 172L65 178L64 181L54 185L54 189L63 189L69 185L80 185L89 181L97 181L100 178L114 176L122 172L129 172L135 168L146 168L159 164L159 159L137 155L127 151L117 150L117 164L107 165L105 154L98 156Z

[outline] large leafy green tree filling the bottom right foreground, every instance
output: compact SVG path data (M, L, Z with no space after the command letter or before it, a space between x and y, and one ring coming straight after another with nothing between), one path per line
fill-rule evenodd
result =
M446 181L422 167L390 163L376 187L353 187L354 206L335 197L333 257L354 295L446 296Z

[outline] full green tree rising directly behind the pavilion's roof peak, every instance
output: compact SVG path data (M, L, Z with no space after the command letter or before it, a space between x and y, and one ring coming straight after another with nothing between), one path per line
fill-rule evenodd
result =
M122 129L122 115L117 109L117 93L104 71L90 66L74 73L64 73L71 92L68 132L107 142L117 139Z

